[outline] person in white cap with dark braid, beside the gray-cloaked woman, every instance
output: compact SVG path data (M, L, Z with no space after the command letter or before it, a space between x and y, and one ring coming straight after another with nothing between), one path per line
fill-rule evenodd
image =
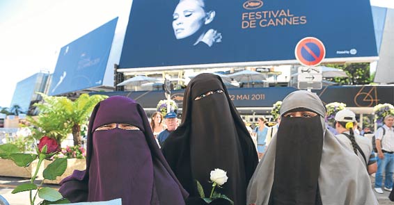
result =
M353 151L367 167L368 174L377 170L377 160L372 150L372 142L363 136L354 133L356 115L348 109L340 110L336 113L336 131L339 133L336 138Z

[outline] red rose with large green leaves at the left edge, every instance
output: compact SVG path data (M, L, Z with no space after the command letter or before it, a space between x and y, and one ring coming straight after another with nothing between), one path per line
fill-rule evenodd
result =
M67 159L57 158L54 160L45 168L44 172L42 172L44 180L42 180L39 185L34 183L42 161L44 161L44 159L52 158L52 156L54 156L60 150L61 149L58 145L58 142L56 142L54 138L49 138L47 136L44 136L40 139L38 147L36 148L36 154L19 153L19 149L13 144L0 145L0 157L12 160L19 167L28 167L31 162L38 158L38 165L36 167L36 171L31 177L30 183L23 183L17 186L12 193L16 194L18 192L29 191L31 205L34 205L37 196L41 199L44 199L40 204L70 203L67 199L64 199L61 193L57 190L49 187L42 187L42 183L44 183L45 179L54 180L56 177L61 176L61 174L65 172L65 169L67 168ZM33 194L33 190L36 190L36 193Z

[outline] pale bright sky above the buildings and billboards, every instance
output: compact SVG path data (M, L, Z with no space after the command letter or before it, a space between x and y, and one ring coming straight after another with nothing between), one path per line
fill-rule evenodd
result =
M394 0L370 0L394 8ZM124 15L132 0L0 0L0 106L9 107L17 82L54 72L58 51Z

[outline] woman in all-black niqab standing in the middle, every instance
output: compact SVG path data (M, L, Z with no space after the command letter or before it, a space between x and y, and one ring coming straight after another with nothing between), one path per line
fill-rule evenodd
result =
M210 196L210 171L225 170L227 183L218 191L246 204L246 186L258 164L255 146L221 78L199 74L183 99L182 124L162 147L164 156L190 197L199 197L198 180Z

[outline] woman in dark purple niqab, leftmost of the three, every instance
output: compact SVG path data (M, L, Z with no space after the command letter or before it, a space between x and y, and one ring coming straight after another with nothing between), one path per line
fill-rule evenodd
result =
M100 130L116 123L113 129ZM122 129L130 124L136 129ZM70 202L122 199L122 204L184 204L187 192L161 154L136 101L114 96L95 106L88 127L86 170L61 181Z

